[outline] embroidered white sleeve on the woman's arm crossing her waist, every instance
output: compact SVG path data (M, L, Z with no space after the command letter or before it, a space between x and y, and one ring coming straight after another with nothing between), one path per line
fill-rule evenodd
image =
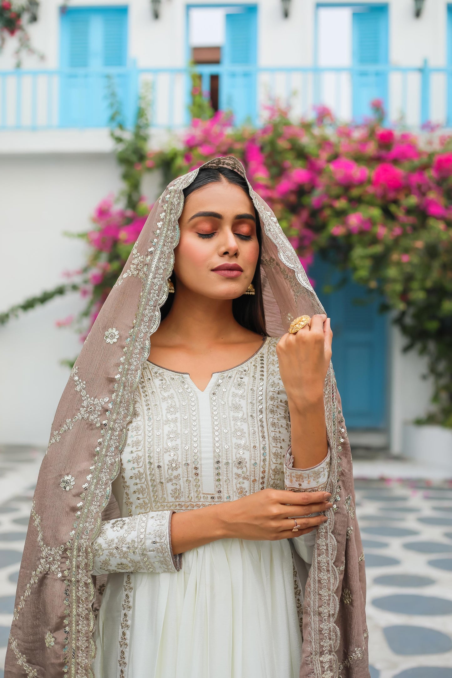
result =
M173 511L150 511L102 523L94 541L94 573L176 572L182 555L171 549Z

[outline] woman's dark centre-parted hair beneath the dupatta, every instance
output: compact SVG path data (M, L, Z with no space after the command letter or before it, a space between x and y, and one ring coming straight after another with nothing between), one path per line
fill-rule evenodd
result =
M234 172L233 169L228 169L228 167L205 167L204 169L200 169L194 181L192 181L189 186L184 188L184 200L188 198L190 193L197 191L199 188L202 188L207 184L221 182L223 180L226 180L229 184L235 184L236 186L239 186L242 191L245 191L245 193L249 195L247 181L245 178L243 178L243 176L237 174L237 172ZM262 231L257 210L254 210L254 214L256 219L256 235L258 237L259 243L258 263L256 264L255 273L253 276L255 294L254 296L250 294L243 294L237 299L233 299L232 313L237 322L243 327L246 327L247 330L267 336L265 327L264 300L262 298L262 282L260 276ZM173 295L170 294L167 301L161 308L162 319L169 313L172 303Z

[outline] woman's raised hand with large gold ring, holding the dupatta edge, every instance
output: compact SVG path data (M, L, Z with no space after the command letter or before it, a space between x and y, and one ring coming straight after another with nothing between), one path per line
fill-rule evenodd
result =
M323 384L331 360L330 319L313 315L310 326L296 334L284 334L276 344L279 372L287 399L296 409L323 401Z

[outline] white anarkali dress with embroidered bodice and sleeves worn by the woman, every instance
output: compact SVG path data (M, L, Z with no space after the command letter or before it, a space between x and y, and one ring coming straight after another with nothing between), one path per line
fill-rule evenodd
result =
M329 456L290 468L277 342L266 338L253 357L213 374L205 391L188 374L144 363L113 484L123 517L104 522L94 544L94 574L108 573L96 678L298 678L306 578L292 549L307 572L315 532L171 551L173 511L266 487L325 488Z

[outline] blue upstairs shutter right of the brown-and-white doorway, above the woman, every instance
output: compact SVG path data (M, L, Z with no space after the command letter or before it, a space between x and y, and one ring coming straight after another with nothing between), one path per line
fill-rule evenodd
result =
M255 120L256 17L256 7L243 7L226 14L222 64L232 69L226 68L223 83L220 81L220 108L232 111L238 125Z

